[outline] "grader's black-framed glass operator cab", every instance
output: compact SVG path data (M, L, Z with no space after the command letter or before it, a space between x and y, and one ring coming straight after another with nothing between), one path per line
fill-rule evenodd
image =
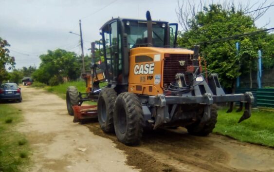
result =
M147 22L152 23L152 43L149 43ZM129 49L144 46L175 48L178 24L116 18L110 19L100 30L109 84L128 85Z

